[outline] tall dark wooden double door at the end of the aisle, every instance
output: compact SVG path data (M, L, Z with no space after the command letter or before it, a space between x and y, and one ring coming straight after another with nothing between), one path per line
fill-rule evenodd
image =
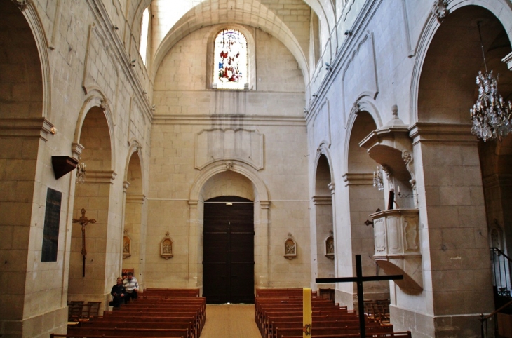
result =
M248 199L204 203L203 297L208 304L254 303L254 204Z

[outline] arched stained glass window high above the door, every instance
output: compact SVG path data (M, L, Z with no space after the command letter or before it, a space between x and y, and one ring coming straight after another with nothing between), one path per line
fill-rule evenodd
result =
M247 40L235 29L224 29L215 38L213 86L243 89L248 83Z

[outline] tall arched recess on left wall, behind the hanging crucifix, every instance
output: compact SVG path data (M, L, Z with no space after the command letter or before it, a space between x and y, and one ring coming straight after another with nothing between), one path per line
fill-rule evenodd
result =
M77 222L72 225L68 283L69 300L102 302L103 306L108 304L110 288L119 273L117 234L121 231L109 229L110 191L116 173L112 170L113 135L105 110L93 106L80 114L75 150L81 152L80 162L86 164L86 179L83 184L76 184L73 218L79 219L81 210L85 210L85 217L96 222L85 227L85 259L82 227Z

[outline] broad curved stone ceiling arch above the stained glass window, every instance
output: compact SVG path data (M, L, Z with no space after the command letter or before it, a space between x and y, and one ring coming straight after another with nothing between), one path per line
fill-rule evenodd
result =
M223 6L223 5L227 6ZM304 82L309 79L309 67L304 50L287 25L274 12L256 0L227 0L223 4L217 0L203 1L192 8L173 26L163 38L151 62L151 79L154 79L163 58L175 43L209 25L236 23L258 27L281 41L292 53L302 69Z

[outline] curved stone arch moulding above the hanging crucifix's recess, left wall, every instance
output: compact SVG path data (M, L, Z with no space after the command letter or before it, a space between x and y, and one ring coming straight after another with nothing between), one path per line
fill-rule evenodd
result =
M107 119L107 126L109 128L110 135L110 149L112 156L110 161L110 168L112 168L113 170L113 168L116 168L116 142L114 137L114 119L107 97L105 97L105 95L99 91L93 91L91 95L89 95L82 104L78 119L76 121L76 127L72 143L72 151L73 154L75 154L75 156L80 156L81 151L83 150L83 146L80 144L83 121L86 119L88 112L93 107L100 107L100 109L102 109L103 113L105 114L105 119Z

